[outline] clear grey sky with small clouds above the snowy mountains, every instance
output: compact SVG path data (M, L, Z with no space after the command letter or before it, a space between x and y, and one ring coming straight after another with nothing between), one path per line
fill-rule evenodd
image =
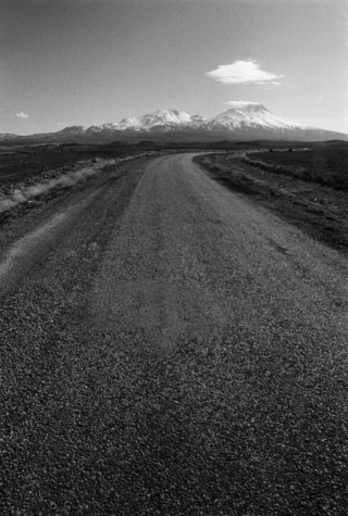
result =
M261 102L348 134L348 0L0 0L0 133Z

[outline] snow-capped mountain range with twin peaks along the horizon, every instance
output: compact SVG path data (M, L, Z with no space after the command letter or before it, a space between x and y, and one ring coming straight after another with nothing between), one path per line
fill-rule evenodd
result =
M341 133L306 127L279 118L259 102L234 101L228 104L225 112L211 118L199 114L191 116L178 109L159 110L138 117L123 118L120 122L110 122L88 128L83 126L65 127L58 133L33 135L33 137L53 137L55 139L98 137L122 141L141 139L166 141L348 139L348 135Z

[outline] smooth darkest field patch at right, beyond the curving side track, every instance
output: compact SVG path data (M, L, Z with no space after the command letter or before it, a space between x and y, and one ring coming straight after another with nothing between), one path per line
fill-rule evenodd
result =
M247 161L270 172L348 191L348 144L345 143L293 152L258 152L249 154Z

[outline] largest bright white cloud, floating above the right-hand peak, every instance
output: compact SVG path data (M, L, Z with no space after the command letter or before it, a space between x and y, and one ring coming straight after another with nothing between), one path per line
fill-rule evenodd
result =
M283 75L272 74L260 68L256 61L235 61L232 64L221 64L219 68L207 73L219 83L225 85L276 85L279 83L275 79L283 77Z

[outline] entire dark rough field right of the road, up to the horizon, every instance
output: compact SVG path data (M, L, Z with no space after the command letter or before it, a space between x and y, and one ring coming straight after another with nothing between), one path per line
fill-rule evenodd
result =
M202 154L217 183L248 196L312 238L348 251L347 149ZM327 165L325 165L325 163ZM327 167L326 167L327 166Z

